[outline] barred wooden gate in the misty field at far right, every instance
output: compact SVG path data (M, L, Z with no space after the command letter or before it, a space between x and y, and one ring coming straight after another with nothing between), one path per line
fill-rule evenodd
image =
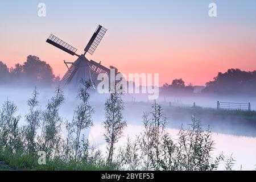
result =
M234 102L220 102L217 101L218 110L247 110L251 111L251 104L249 103L234 103Z

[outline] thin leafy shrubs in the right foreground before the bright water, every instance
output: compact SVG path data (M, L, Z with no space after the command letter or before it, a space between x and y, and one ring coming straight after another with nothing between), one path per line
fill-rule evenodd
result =
M233 158L224 155L213 159L214 142L209 128L203 130L199 119L192 117L187 130L181 127L175 141L166 131L166 118L160 105L152 105L151 113L143 115L144 131L134 143L119 149L119 167L124 169L212 171L221 162L232 169ZM137 145L139 143L139 146ZM134 164L136 167L134 168Z

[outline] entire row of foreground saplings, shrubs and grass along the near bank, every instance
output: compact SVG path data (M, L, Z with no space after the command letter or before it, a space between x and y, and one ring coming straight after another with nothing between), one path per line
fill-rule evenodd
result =
M122 137L126 121L122 111L122 94L115 92L105 102L104 137L108 154L90 145L81 131L93 126L94 109L89 103L90 82L83 81L79 90L80 104L72 121L63 121L59 109L65 98L60 88L49 100L46 110L39 109L38 91L28 100L26 125L19 127L16 106L6 101L0 110L0 169L21 170L216 170L220 163L232 170L234 159L222 154L213 158L214 141L209 129L204 130L199 119L192 117L188 129L181 127L177 140L168 133L167 118L162 106L154 102L151 111L142 116L143 131L136 138L115 150ZM67 135L61 133L65 126ZM41 130L39 130L41 129ZM39 151L46 152L46 165L38 163Z

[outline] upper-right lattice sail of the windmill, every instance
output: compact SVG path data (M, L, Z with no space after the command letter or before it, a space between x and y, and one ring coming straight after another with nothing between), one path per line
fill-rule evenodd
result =
M84 55L86 54L86 52L89 52L91 55L93 55L94 51L98 47L98 44L100 44L101 39L106 34L106 31L107 31L107 29L100 25L97 27L92 38L90 38L89 43L87 44L87 46L84 49L84 51L85 51Z

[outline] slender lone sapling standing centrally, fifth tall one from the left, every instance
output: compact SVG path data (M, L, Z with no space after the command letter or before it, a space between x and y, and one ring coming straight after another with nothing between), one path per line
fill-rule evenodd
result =
M105 102L106 120L104 121L104 128L106 132L104 133L104 137L107 143L107 163L109 166L113 164L114 144L118 142L122 136L123 129L127 126L122 115L123 109L122 93L115 88L114 93L111 93Z

